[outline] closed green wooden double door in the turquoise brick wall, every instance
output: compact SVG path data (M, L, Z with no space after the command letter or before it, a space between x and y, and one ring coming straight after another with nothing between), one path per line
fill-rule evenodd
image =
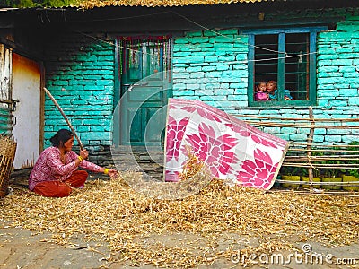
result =
M163 143L166 104L171 97L166 42L131 40L122 43L120 143Z

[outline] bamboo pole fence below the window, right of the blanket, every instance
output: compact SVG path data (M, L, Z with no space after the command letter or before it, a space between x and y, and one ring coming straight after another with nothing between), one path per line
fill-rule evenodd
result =
M288 181L278 179L278 183L289 183L300 187L309 183L311 191L313 187L321 186L328 188L328 186L354 187L359 189L359 178L351 180L350 182L329 180L328 182L313 182L314 176L319 176L320 173L332 174L338 172L348 174L348 171L355 171L359 169L359 142L353 144L345 143L314 143L315 129L341 129L352 130L359 129L359 118L314 118L312 108L309 108L308 117L270 117L258 115L233 115L240 118L246 123L256 126L259 129L266 127L292 127L307 129L307 141L298 143L290 142L290 147L282 164L281 172L288 168L292 170L300 170L302 173L308 175L309 182L303 181ZM304 133L304 132L302 132ZM327 132L326 132L327 133ZM276 135L276 134L274 134ZM359 173L358 173L359 174ZM293 186L292 185L292 186Z

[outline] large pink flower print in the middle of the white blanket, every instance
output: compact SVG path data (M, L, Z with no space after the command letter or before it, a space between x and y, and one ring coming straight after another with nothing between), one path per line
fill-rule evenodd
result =
M186 141L200 160L205 161L215 177L226 174L231 169L231 163L238 161L232 152L237 145L237 139L229 134L216 137L211 126L202 123L198 126L197 134L188 134ZM182 148L182 151L186 151Z

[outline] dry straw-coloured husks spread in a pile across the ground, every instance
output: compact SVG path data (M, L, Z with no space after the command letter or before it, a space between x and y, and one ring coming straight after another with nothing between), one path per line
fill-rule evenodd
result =
M151 185L143 195L127 184L136 182L138 187L139 178L139 173L128 172L122 178L89 181L65 198L41 197L18 188L0 201L0 224L49 231L58 244L83 233L107 242L133 265L182 268L230 259L239 245L234 242L219 249L223 234L261 238L256 249L240 247L261 253L292 248L293 236L331 246L358 239L359 197L266 193L214 179L193 195L165 200L147 195L164 185L178 189L178 183ZM142 184L146 188L148 183ZM183 239L186 244L169 245L151 237L179 232L188 235ZM205 240L206 246L198 240Z

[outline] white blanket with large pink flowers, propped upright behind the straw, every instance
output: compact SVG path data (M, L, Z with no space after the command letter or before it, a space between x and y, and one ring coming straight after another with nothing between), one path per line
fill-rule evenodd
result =
M247 187L273 186L289 143L198 100L169 100L165 180L179 181L188 148L212 175Z

